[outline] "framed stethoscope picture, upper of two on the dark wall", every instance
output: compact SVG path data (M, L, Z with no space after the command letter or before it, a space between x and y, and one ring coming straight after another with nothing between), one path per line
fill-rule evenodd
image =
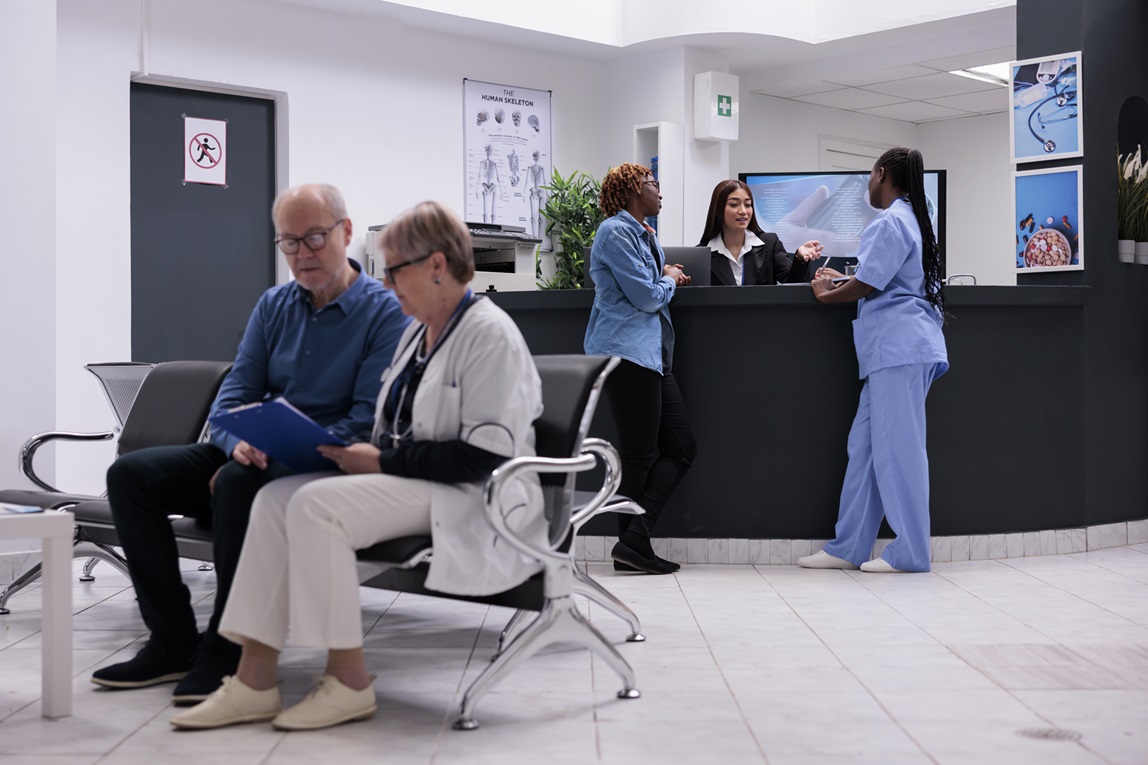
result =
M1014 61L1009 85L1014 163L1084 155L1079 51Z

